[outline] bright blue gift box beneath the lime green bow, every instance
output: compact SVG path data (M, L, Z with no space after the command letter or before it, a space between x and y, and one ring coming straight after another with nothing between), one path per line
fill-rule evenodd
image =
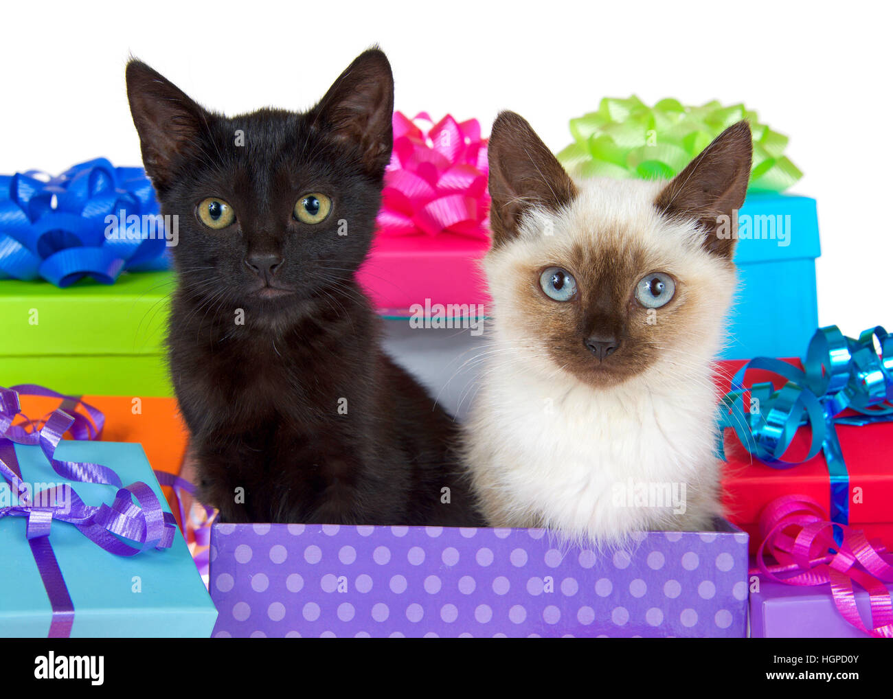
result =
M739 212L739 289L722 359L797 357L819 324L819 224L808 196L753 193Z

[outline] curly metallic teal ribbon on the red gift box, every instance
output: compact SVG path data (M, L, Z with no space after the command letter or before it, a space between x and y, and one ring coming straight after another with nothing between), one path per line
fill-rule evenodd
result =
M758 369L787 379L745 387L747 370ZM809 342L803 369L769 357L747 362L731 381L720 404L718 453L725 459L722 434L732 428L750 454L773 469L789 469L823 452L830 477L830 519L849 524L849 474L836 425L868 425L893 421L893 335L885 329L865 330L858 339L845 337L837 326L820 328ZM750 393L750 409L744 396ZM844 411L855 415L841 415ZM809 453L802 461L782 458L797 429L812 430Z

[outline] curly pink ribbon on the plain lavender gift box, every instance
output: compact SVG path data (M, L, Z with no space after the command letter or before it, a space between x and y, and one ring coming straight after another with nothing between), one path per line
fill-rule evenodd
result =
M843 533L839 546L833 528ZM893 558L880 540L869 541L861 530L831 522L822 505L807 495L782 495L766 505L760 515L760 537L751 574L762 573L786 585L830 583L844 619L869 636L893 638L893 595L883 584L893 582ZM766 553L778 563L767 564ZM868 592L872 628L865 627L855 606L854 582Z

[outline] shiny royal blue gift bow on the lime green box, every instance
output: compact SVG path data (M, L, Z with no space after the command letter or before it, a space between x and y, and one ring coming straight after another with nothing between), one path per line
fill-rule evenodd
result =
M42 277L68 287L88 276L112 284L122 270L165 269L164 235L157 227L151 236L142 227L130 230L129 223L133 215L151 216L160 226L158 212L146 172L104 158L58 177L0 175L0 279ZM110 226L113 235L106 236Z

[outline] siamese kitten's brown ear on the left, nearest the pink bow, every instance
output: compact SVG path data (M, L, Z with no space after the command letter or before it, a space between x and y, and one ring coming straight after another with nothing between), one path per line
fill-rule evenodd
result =
M488 159L493 245L517 236L518 224L531 207L558 211L577 196L561 163L514 112L500 112L493 122Z

